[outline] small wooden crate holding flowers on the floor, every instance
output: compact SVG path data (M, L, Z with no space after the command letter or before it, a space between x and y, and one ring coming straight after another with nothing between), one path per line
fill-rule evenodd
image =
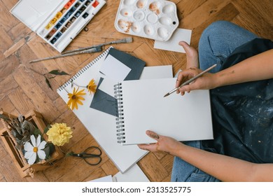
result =
M8 113L5 113L3 111L0 111L0 113L5 116L8 116ZM16 116L13 115L10 116L16 118ZM43 132L43 130L46 127L41 113L38 113L36 111L29 111L29 113L25 115L25 118L26 120L31 121L31 123L34 123L34 125L36 125L38 129L41 130L41 132ZM5 145L7 152L10 154L10 157L12 158L15 167L22 178L29 176L34 177L34 174L36 172L47 169L52 165L52 163L55 160L59 160L64 156L64 154L59 150L59 148L55 146L55 152L52 153L50 160L29 165L22 151L18 151L18 149L15 148L15 141L8 135L8 132L10 132L10 127L7 125L6 122L4 122L3 120L1 121L4 127L3 130L0 130L0 134L3 136L1 137L1 139L3 140L3 144ZM45 141L48 141L46 134L44 134L44 139Z

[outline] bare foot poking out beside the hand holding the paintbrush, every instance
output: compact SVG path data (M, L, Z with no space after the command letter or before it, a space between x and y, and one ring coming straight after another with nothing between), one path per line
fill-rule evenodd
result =
M187 66L186 69L189 69L190 67L199 67L199 61L198 61L198 52L193 48L192 46L188 45L185 41L180 41L179 45L181 45L187 56Z

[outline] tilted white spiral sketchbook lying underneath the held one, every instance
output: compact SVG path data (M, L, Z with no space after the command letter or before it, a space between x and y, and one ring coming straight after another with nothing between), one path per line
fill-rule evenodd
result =
M83 69L80 69L78 73L57 89L57 93L62 97L64 102L68 102L67 92L73 91L71 88L71 80L77 85L85 86L92 78L94 78L97 83L100 78L104 77L102 73L99 73L99 69L111 48L104 51L102 55L99 55L99 57L87 64ZM172 67L170 67L170 69L172 70ZM162 71L169 73L165 69L154 69L150 77L162 76ZM143 73L144 72L145 69ZM90 108L93 97L94 96L87 93L84 97L85 101L83 102L83 106L79 106L78 110L73 110L73 113L75 113L80 122L83 123L87 131L92 134L92 137L94 137L99 146L102 147L119 171L124 173L138 160L144 157L147 152L140 150L137 146L121 146L117 143L116 116Z

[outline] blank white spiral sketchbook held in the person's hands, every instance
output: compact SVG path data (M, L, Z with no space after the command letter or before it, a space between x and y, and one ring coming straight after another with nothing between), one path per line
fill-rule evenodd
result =
M118 143L155 143L146 130L179 141L213 139L209 90L164 95L176 78L130 80L115 85Z

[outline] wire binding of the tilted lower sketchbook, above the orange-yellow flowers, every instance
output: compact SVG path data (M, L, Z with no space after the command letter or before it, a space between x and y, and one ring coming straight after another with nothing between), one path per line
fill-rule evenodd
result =
M104 52L102 52L101 55L99 55L94 60L92 60L92 62L90 62L89 64L87 64L86 66L84 66L83 69L80 69L80 71L78 71L74 76L72 76L66 83L64 83L59 88L57 88L57 90L58 91L62 91L62 90L64 90L65 87L71 85L71 81L76 80L76 78L78 78L82 73L84 73L85 71L87 71L87 69L89 69L93 64L95 64L99 59L101 59L102 57L104 57L105 55L107 55L108 52L109 52L109 50L111 48L113 48L113 46L110 46L107 50L105 50Z

